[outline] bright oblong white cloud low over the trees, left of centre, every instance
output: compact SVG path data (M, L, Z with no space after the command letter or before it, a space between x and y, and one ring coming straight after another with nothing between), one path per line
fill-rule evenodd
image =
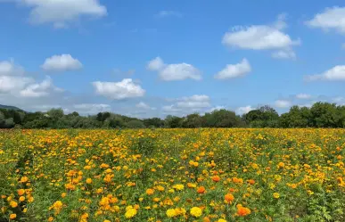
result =
M96 81L92 84L96 94L114 100L141 97L145 94L145 90L140 85L134 83L132 78L124 78L120 82Z

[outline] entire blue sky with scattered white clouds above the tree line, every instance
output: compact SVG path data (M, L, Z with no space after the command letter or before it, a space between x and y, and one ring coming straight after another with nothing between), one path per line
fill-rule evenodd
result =
M345 103L343 1L0 0L0 103L177 116Z

